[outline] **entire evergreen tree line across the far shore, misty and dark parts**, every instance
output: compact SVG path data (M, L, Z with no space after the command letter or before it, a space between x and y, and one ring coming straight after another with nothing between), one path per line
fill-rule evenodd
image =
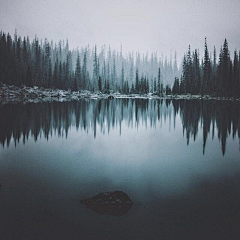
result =
M157 53L123 56L122 47L120 52L103 46L98 53L96 45L70 50L68 41L30 41L1 31L0 82L104 93L240 97L240 53L235 50L232 60L225 39L217 60L216 48L212 56L205 39L203 59L189 46L178 68L176 52L168 61Z

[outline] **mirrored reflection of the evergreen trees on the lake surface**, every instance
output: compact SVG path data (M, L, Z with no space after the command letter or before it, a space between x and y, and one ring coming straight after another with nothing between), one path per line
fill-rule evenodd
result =
M138 128L140 124L156 128L158 122L180 116L187 144L195 141L199 130L203 133L203 154L208 137L217 134L223 155L228 137L240 139L240 103L230 101L201 100L148 100L114 99L81 100L72 102L48 102L5 104L0 107L0 143L15 145L29 136L35 141L41 136L48 139L53 134L68 136L71 127L86 132L96 129L109 133L122 123Z

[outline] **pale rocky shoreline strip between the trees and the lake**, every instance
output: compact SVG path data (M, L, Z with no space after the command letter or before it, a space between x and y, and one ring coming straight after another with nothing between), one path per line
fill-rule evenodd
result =
M17 87L14 85L2 84L0 86L0 103L10 102L66 102L80 99L159 99L159 100L225 100L225 101L240 101L240 98L233 97L213 97L201 95L166 95L158 96L153 93L148 94L120 94L112 92L104 94L101 92L91 93L87 90L70 91L42 87Z

